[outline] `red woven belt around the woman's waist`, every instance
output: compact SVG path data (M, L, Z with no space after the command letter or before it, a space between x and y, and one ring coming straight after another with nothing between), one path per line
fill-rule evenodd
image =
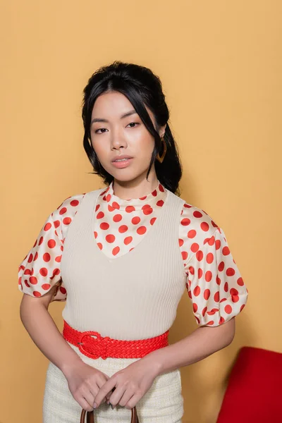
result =
M99 332L80 332L63 321L63 338L79 348L82 354L90 358L141 358L159 348L168 345L168 332L154 338L137 341L121 341L101 336Z

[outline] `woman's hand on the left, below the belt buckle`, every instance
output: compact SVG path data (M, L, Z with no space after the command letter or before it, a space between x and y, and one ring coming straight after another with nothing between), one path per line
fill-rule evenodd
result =
M109 380L109 376L85 364L85 362L70 367L64 372L64 375L73 398L75 398L80 407L87 411L92 411L94 398L97 396L99 389ZM103 398L101 402L104 403L109 399L110 395L111 393Z

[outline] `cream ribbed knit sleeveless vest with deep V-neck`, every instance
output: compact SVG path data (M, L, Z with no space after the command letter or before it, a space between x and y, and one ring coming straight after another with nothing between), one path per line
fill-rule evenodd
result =
M110 259L93 235L100 192L85 194L63 245L61 276L68 292L63 319L78 331L115 339L158 336L173 324L185 290L178 245L184 200L167 190L157 221L140 243Z

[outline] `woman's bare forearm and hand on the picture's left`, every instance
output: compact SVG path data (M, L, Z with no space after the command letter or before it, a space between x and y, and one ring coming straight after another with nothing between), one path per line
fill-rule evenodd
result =
M20 319L39 350L61 369L73 398L82 408L92 411L94 396L109 380L109 376L83 362L61 335L48 311L55 289L54 286L39 298L24 294Z

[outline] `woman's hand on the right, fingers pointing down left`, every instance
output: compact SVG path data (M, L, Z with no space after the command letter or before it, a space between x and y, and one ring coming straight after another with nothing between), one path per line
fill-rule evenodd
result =
M149 360L137 360L106 381L94 398L94 406L99 407L104 398L109 398L112 407L122 405L133 408L152 386L156 376L157 372ZM111 393L113 388L114 392Z

